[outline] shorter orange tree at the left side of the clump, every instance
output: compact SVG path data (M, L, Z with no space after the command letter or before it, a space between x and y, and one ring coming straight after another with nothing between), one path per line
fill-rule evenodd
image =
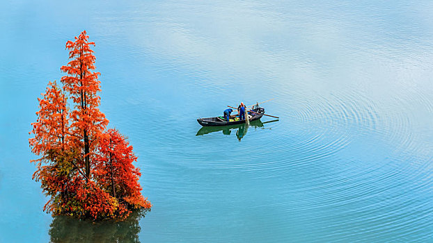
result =
M68 177L73 173L72 150L69 147L69 114L65 94L49 82L43 98L38 99L40 110L33 123L35 137L29 140L31 151L40 158L32 160L37 169L33 179L41 181L43 192L50 196L44 208L53 208L68 196Z

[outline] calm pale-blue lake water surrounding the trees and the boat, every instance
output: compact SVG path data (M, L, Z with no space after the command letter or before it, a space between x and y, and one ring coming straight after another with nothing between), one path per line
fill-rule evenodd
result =
M53 218L31 180L83 30L145 217ZM0 242L433 242L432 1L1 1L0 33ZM279 121L196 122L272 98Z

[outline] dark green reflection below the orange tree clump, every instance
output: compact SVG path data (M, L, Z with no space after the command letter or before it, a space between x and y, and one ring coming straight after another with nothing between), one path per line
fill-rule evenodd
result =
M133 212L124 221L93 222L56 216L49 229L50 242L140 242L139 221L145 216L145 212Z

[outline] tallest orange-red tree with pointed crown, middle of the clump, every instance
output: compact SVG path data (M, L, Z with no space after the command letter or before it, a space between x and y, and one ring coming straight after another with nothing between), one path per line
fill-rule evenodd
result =
M71 114L71 129L73 132L72 143L83 154L86 171L86 181L90 179L90 168L93 166L92 159L95 154L98 136L104 131L108 119L100 112L100 97L97 92L101 91L100 81L97 77L99 72L95 70L95 56L90 49L95 42L88 42L88 35L83 31L75 41L66 42L69 51L70 62L61 67L68 74L61 78L63 88L68 92L74 102L74 110Z

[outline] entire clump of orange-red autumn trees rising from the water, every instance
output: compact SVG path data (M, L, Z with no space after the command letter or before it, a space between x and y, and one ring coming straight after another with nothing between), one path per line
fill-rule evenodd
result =
M86 31L68 41L71 60L61 67L67 74L61 78L63 87L49 83L38 99L38 119L32 124L35 136L29 140L31 151L40 156L32 160L37 165L33 178L41 181L42 191L49 196L44 210L53 215L125 218L132 210L150 209L151 204L141 195L132 146L118 131L105 131L109 121L99 109L100 73L95 72L92 45ZM116 141L109 167L103 159L107 139ZM109 187L107 175L112 179Z

